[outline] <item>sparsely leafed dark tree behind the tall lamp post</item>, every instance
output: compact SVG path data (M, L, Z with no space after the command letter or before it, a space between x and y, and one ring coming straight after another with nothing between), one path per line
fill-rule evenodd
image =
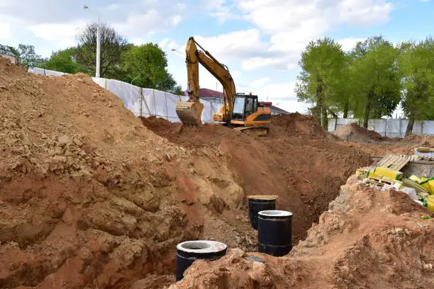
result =
M95 75L96 68L97 27L98 23L90 23L81 33L76 35L78 45L75 58L79 64L78 69L92 77ZM130 47L128 40L106 23L100 23L99 31L101 38L100 76L121 79L123 77L123 71L120 69L121 57L123 52L126 52Z

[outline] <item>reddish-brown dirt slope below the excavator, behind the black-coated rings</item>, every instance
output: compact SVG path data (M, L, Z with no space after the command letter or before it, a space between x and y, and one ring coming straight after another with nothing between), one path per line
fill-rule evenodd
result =
M347 177L371 162L369 154L328 140L316 120L298 113L273 117L267 137L216 124L188 128L158 118L142 121L169 142L194 152L191 164L197 174L208 177L208 166L228 164L245 196L278 195L277 208L294 212L295 244L306 237ZM197 163L204 155L206 164Z

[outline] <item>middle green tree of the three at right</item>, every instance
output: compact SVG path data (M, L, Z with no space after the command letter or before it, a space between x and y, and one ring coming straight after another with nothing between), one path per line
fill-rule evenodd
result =
M355 96L355 115L363 118L391 116L401 100L397 50L382 36L358 42L352 50L349 89Z

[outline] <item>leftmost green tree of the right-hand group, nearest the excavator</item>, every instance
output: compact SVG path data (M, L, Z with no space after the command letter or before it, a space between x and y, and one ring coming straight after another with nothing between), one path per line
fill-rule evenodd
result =
M301 53L297 98L313 105L311 112L323 128L328 125L328 110L345 106L345 99L338 95L345 64L345 52L330 38L309 42Z

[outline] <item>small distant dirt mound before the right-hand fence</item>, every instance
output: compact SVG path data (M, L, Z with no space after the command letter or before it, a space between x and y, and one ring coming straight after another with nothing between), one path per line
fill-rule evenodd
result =
M333 132L333 135L344 140L345 142L381 142L384 140L390 140L389 137L382 137L378 132L374 130L368 130L367 128L361 128L357 123L349 123L343 127L338 128Z

